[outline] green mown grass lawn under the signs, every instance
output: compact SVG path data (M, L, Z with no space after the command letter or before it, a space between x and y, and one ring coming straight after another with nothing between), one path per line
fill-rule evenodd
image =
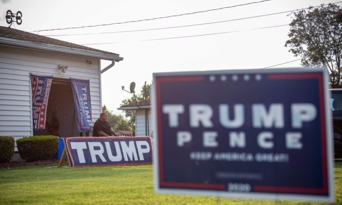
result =
M305 204L155 194L151 165L0 169L0 204ZM342 163L335 164L336 204L342 204ZM312 204L312 203L306 203Z

